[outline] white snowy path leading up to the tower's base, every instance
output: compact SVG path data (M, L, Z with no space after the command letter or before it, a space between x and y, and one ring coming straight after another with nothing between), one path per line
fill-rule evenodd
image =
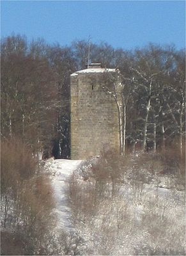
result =
M63 228L66 232L73 230L70 217L70 208L67 206L66 179L81 164L81 160L57 159L47 161L45 167L52 174L52 186L54 189L54 197L56 198L56 214L58 218L58 228Z

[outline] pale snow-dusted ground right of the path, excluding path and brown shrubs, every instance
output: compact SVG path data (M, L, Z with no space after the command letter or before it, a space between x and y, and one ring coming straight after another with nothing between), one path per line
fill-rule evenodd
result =
M81 198L78 198L80 203L86 202L88 191L93 193L95 189L91 175L94 161L84 163L76 172L78 188L82 189ZM152 175L147 179L148 172L141 169L139 174L143 176L143 173L146 179L141 182L128 170L123 182L118 184L120 188L114 198L109 193L112 186L107 186L106 180L105 187L102 186L105 188L104 200L97 202L93 214L86 206L86 211L79 207L77 212L81 214L77 217L76 228L86 242L85 255L183 254L185 191L174 188L176 180L171 176ZM77 202L74 203L78 207Z

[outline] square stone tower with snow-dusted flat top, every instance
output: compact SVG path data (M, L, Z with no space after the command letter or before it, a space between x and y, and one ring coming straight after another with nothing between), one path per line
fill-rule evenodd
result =
M118 71L95 63L70 76L71 159L98 156L104 147L119 148L116 102L103 88L109 74L117 77Z

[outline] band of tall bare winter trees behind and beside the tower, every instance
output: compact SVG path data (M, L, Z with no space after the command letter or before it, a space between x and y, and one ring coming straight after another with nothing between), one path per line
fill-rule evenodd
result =
M149 44L125 51L74 41L70 46L28 43L13 35L1 41L1 137L20 137L34 153L70 156L70 74L92 63L118 68L121 152L165 150L185 143L185 50ZM112 81L112 79L111 79ZM105 86L106 88L106 86ZM116 96L114 90L113 96Z

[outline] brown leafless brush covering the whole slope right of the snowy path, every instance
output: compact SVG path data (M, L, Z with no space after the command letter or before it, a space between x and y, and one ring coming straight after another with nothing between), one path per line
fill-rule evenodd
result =
M73 173L70 202L87 254L183 254L185 195L175 186L178 172L164 174L166 163L160 153L108 150Z

